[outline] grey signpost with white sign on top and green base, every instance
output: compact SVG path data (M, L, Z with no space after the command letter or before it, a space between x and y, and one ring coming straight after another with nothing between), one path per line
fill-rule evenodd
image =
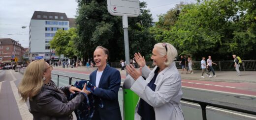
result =
M126 65L129 65L128 17L139 16L139 0L107 0L107 5L107 10L111 15L123 18ZM124 120L134 120L135 106L139 97L130 90L133 82L134 80L129 75L124 82Z

